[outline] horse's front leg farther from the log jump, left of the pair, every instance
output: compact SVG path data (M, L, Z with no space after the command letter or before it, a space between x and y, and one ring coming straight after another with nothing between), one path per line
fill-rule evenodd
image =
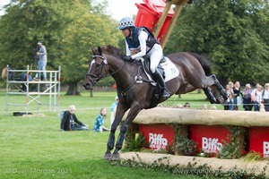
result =
M115 132L117 130L117 125L120 123L125 113L126 113L126 110L123 107L121 107L121 104L119 103L117 105L115 120L113 124L111 125L110 134L108 137L107 151L105 153L104 159L111 158L111 150L114 148L114 144L115 144Z

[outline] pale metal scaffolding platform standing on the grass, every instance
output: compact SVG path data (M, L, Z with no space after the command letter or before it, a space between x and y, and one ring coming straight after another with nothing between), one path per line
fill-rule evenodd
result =
M10 72L19 73L20 77L21 74L24 74L25 79L10 79ZM59 113L61 67L59 66L57 71L46 71L48 77L47 81L36 81L31 75L34 72L41 73L43 71L31 70L29 65L27 65L26 70L12 70L7 65L6 113L8 113L11 106L16 106L24 107L24 111L28 115L30 113L30 105L33 106L34 103L37 106L37 114L39 114L41 106L48 106L48 111L57 111ZM19 96L26 96L25 102L19 103L20 100L12 102L12 96L15 98L19 98ZM41 98L44 99L46 97L48 97L47 103L41 100Z

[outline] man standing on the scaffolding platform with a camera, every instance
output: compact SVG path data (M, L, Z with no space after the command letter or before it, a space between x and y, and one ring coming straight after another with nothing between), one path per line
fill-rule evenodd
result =
M39 52L37 55L39 56L38 62L38 70L43 71L43 81L47 81L47 72L46 72L46 65L47 65L47 49L41 42L38 43ZM38 72L38 80L41 78L41 72Z

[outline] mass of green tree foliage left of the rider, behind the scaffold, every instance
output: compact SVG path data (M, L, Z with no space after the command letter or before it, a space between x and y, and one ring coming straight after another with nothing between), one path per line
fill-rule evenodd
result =
M47 69L61 65L62 80L69 86L66 94L79 94L77 84L88 70L91 47L118 44L117 21L105 14L106 5L94 6L91 0L12 0L0 19L1 64L14 69L36 64L31 50L41 40L48 51Z

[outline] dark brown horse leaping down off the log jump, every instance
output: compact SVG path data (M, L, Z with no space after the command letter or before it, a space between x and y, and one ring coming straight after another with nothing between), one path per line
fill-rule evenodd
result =
M136 60L124 61L121 59L124 54L119 48L108 45L91 48L91 51L93 57L89 64L89 71L82 82L85 90L92 90L98 81L108 76L112 76L117 84L119 101L104 156L104 159L117 160L120 158L119 151L122 149L127 127L135 116L141 110L156 107L166 99L159 98L158 91L160 92L160 90L158 90L158 86L152 85L152 81L149 80L141 67L142 63ZM176 65L179 72L177 77L166 81L167 88L171 93L170 96L203 89L211 103L221 103L227 99L227 94L221 83L214 74L210 74L211 64L206 57L188 52L173 53L166 57ZM137 77L139 82L137 82ZM117 125L122 121L127 110L129 112L126 120L121 124L115 145ZM111 153L114 146L116 148Z

